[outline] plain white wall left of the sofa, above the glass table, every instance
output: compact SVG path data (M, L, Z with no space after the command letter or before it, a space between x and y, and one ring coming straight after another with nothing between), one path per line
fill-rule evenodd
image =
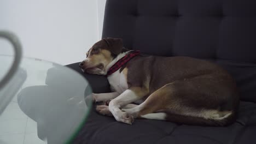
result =
M1 0L0 29L19 36L24 56L69 64L100 39L97 13L95 0Z

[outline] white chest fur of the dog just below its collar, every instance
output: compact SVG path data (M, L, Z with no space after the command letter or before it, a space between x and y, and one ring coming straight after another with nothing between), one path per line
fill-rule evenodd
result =
M121 94L126 89L128 89L127 80L123 71L120 73L119 70L117 70L112 75L109 75L108 82L110 84L111 90L114 92Z

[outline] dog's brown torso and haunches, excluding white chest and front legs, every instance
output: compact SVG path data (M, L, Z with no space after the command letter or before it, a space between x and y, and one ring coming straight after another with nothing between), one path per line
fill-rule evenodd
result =
M167 113L169 121L202 125L234 121L236 83L216 64L191 57L139 56L126 68L128 85L148 89L148 97L161 91L149 105Z

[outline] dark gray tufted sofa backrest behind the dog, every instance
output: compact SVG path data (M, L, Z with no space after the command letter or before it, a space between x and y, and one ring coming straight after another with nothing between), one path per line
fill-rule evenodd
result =
M216 62L256 102L255 0L108 0L103 38L158 56Z

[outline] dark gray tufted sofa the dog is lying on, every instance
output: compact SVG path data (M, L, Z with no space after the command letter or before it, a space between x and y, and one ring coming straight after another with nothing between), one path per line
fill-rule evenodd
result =
M190 56L221 65L240 91L238 117L228 127L149 119L127 125L92 110L73 143L256 143L256 1L108 0L106 37L123 38L127 49L147 55ZM67 67L82 74L95 93L110 92L105 76L83 74L78 63ZM57 74L50 71L48 77L51 87Z

